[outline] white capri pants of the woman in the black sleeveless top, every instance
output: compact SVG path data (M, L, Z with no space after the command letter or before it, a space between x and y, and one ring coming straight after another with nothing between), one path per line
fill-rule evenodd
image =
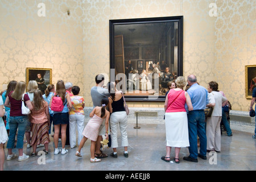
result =
M110 115L110 129L111 129L111 148L117 148L117 127L120 127L122 146L127 147L127 114L126 111L117 111Z

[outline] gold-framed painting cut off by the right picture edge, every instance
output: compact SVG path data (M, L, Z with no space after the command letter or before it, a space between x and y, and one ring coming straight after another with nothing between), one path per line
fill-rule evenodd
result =
M252 98L253 89L256 88L256 65L245 66L245 96Z

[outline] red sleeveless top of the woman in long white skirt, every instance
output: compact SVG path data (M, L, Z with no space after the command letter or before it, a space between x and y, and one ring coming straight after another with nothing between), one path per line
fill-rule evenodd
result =
M181 93L181 92L183 92L183 93ZM179 93L181 93L181 94L179 94ZM178 96L178 94L179 94L179 96ZM186 112L186 109L185 109L186 97L185 97L184 90L176 91L174 89L171 89L169 91L169 93L167 94L167 97L168 97L168 106L166 109L166 113ZM175 98L176 98L176 100L173 102L173 100ZM173 103L171 104L171 102L173 102Z

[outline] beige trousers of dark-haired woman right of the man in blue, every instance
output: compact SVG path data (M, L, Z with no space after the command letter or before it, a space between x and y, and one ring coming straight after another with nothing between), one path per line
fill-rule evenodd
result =
M221 116L212 116L206 121L207 150L221 151Z

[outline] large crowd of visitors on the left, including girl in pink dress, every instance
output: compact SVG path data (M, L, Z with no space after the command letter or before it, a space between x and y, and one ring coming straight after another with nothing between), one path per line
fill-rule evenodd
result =
M56 88L50 84L45 93L38 88L36 81L31 80L27 86L24 81L10 81L7 89L1 92L0 97L0 170L3 170L5 161L4 144L8 150L6 160L17 158L13 148L18 148L18 161L29 159L36 155L37 147L44 146L43 152L48 154L53 124L54 155L68 153L65 146L77 147L76 156L81 157L81 148L87 139L91 140L90 162L100 162L106 158L101 150L102 135L109 139L111 131L111 147L113 153L110 156L117 158L117 127L120 126L123 155L128 155L127 138L127 114L123 105L122 93L115 89L115 83L109 82L107 88L103 88L104 76L95 77L95 86L91 88L93 111L91 119L85 126L85 100L79 96L79 86L73 86L71 82L58 80ZM57 102L59 101L59 102ZM29 108L30 114L22 114L22 102ZM57 103L59 105L57 105ZM61 110L55 110L56 105ZM111 113L111 117L110 117ZM5 117L5 118L4 118ZM5 122L4 122L5 121ZM111 130L110 130L111 126ZM77 141L78 133L78 141ZM24 140L26 138L26 140ZM23 144L27 142L27 148L33 147L31 155L23 152ZM58 144L61 142L61 148Z

